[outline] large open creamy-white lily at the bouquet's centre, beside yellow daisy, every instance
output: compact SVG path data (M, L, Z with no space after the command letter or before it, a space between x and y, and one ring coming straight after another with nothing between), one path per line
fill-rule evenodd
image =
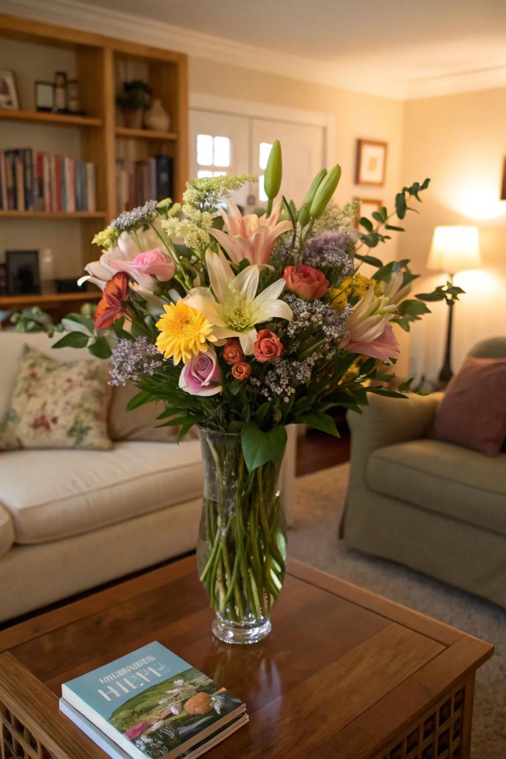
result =
M230 264L208 250L206 265L212 291L205 287L193 288L184 301L203 313L213 326L212 334L219 341L238 337L244 354L250 355L256 340L255 324L275 317L293 319L291 307L279 300L286 285L285 279L278 279L256 295L259 282L259 266L256 264L234 276Z

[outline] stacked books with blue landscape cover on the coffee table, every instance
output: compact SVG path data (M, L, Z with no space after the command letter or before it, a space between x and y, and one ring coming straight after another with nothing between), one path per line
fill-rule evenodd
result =
M61 686L60 709L113 759L196 759L246 705L157 642Z

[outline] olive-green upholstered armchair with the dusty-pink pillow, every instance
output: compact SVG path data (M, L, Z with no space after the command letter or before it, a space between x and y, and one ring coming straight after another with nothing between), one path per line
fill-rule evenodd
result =
M506 338L474 356L506 356ZM348 414L350 483L341 536L506 607L506 453L489 457L426 436L441 393L372 396Z

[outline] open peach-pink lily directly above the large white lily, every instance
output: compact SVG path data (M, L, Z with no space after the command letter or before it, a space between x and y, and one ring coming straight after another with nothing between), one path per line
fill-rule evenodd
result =
M227 199L231 216L220 209L225 222L226 232L221 229L209 229L223 249L228 253L232 263L240 263L246 258L250 263L269 263L269 257L279 235L293 229L290 221L278 222L281 201L276 203L270 216L256 216L249 213L243 216L236 204Z

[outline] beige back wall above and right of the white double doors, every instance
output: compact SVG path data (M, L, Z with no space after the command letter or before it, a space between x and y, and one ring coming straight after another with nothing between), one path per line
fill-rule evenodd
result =
M203 58L190 58L190 93L236 98L286 108L306 109L334 117L335 161L342 175L336 192L338 203L352 197L369 197L391 204L401 181L402 102L384 97L336 90L247 68L223 66ZM357 139L369 137L388 142L385 187L354 184ZM385 260L395 257L397 241L385 246Z

